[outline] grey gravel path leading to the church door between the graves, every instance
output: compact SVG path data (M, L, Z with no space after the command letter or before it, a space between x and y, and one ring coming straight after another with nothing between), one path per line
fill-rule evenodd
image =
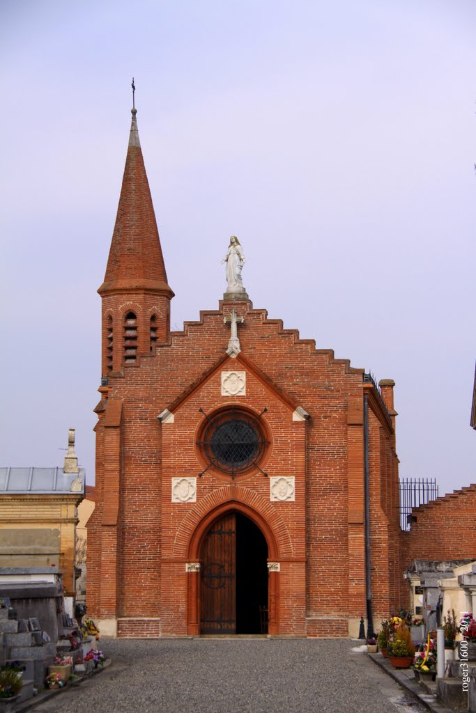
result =
M408 713L426 709L348 640L101 640L113 665L48 713Z

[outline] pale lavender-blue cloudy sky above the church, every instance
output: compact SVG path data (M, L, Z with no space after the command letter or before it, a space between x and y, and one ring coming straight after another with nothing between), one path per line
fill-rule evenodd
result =
M394 379L403 478L476 483L471 0L2 0L1 466L94 482L101 300L136 83L176 297Z

